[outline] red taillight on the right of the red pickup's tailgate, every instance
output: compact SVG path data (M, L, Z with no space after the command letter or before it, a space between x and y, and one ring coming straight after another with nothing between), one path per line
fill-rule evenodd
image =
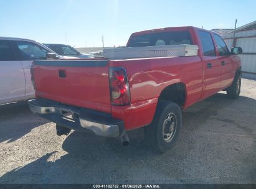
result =
M130 104L130 88L125 68L110 68L111 104L124 106Z

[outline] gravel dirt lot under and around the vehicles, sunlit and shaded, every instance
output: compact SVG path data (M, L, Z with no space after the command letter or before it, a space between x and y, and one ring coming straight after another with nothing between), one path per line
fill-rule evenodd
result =
M0 183L256 183L256 81L242 80L239 99L219 93L183 112L178 145L146 149L143 129L119 139L72 132L26 103L0 108Z

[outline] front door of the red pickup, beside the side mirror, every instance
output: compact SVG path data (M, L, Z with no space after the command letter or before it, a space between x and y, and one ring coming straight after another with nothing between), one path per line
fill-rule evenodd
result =
M217 34L214 34L214 40L216 42L218 63L221 65L221 78L220 78L220 90L227 88L231 85L235 76L235 65L230 58L229 48L225 44L224 40Z

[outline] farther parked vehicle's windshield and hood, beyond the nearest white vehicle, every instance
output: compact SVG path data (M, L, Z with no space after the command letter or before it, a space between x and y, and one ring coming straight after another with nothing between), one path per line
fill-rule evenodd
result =
M93 55L80 53L77 49L71 47L70 45L63 45L63 44L44 44L44 45L52 49L58 55L71 56L71 57L77 57L77 58L94 58Z

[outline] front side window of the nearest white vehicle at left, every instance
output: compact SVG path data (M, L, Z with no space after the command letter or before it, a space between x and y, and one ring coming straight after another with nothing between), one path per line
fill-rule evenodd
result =
M21 60L46 59L46 54L49 52L45 48L32 42L19 41L16 42L16 44L19 48Z

